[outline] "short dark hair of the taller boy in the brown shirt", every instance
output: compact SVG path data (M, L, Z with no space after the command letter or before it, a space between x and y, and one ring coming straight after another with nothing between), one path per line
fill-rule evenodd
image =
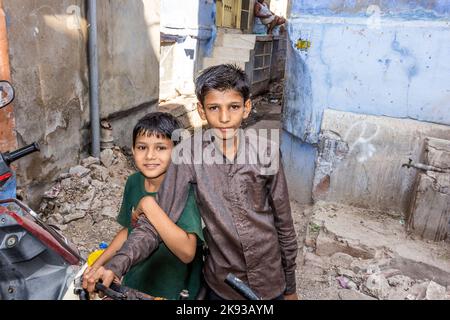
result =
M236 90L244 98L250 98L250 82L245 72L233 64L221 64L203 70L195 79L195 94L201 104L210 90Z

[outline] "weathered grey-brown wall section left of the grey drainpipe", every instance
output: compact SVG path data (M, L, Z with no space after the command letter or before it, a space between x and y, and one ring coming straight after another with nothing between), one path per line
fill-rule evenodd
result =
M19 162L19 185L37 196L81 151L80 129L89 117L87 29L85 19L78 23L70 9L81 15L84 1L6 0L4 7L17 140L19 146L41 145L40 154Z

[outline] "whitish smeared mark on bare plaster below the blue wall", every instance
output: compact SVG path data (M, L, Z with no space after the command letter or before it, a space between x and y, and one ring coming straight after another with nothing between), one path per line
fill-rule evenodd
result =
M354 154L358 162L366 162L377 149L371 141L378 135L380 127L376 123L358 121L346 132L344 141L349 145L349 155ZM353 142L352 142L353 141Z

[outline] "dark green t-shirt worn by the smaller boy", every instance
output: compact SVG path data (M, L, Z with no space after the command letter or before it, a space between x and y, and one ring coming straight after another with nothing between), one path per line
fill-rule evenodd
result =
M144 196L155 196L156 192L147 192L144 185L145 177L137 172L128 177L125 185L122 206L117 222L128 228L128 234L133 229L131 226L131 213ZM123 284L127 287L144 293L164 297L166 299L179 299L181 290L189 291L189 298L195 299L202 283L204 242L200 213L194 198L192 187L186 206L176 225L189 233L197 235L197 250L194 260L185 264L175 256L161 242L158 248L144 261L133 266L125 275Z

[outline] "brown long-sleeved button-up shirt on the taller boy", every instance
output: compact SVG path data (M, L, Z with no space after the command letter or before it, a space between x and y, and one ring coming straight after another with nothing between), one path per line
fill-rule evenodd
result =
M196 186L209 248L204 267L207 284L222 298L242 299L224 282L231 272L263 299L295 293L297 240L278 145L241 131L236 158L230 161L210 131L200 142L198 137L175 149L158 202L177 221L189 184ZM118 276L150 255L160 241L142 217L106 265Z

